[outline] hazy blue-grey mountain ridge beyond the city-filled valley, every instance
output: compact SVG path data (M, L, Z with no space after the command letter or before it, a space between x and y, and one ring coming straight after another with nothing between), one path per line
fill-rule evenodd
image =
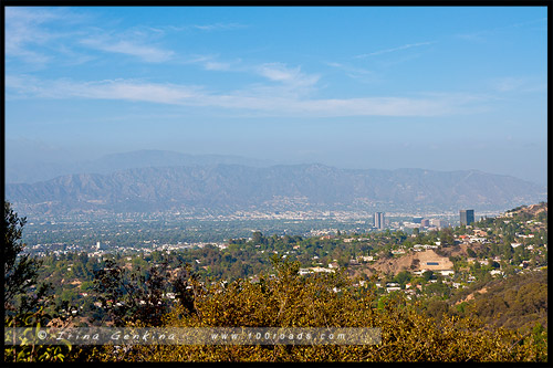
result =
M9 183L6 198L39 213L285 210L503 210L546 188L477 170L353 170L324 165L205 165L79 174Z

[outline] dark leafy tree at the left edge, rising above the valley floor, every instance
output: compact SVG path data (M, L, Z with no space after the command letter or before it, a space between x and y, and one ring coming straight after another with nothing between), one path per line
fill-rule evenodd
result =
M4 311L8 313L9 311L17 309L15 298L25 295L36 284L41 262L29 254L22 253L25 244L21 241L21 238L27 218L18 217L18 213L13 212L8 201L4 201L3 214L6 230L3 245L3 296Z

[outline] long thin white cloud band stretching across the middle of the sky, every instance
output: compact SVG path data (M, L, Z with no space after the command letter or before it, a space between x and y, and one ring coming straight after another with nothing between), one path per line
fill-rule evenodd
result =
M271 74L276 80L284 75ZM225 108L269 116L442 116L470 113L480 97L434 95L431 97L359 97L302 98L298 96L260 95L251 91L226 94L209 93L199 86L113 80L75 82L40 81L28 76L8 76L7 88L20 96L41 98L88 98L145 102L178 106Z

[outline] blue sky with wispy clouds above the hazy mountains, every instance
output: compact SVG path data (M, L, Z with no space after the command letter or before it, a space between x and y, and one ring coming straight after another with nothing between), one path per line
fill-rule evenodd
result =
M167 149L546 183L545 7L4 9L7 160Z

